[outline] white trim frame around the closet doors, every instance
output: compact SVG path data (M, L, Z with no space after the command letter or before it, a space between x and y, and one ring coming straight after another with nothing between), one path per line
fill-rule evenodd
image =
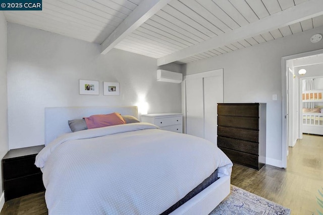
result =
M182 110L183 110L183 133L187 133L186 131L186 80L190 79L200 79L200 78L207 78L212 76L221 76L223 80L223 101L224 101L224 75L223 75L223 68L214 69L210 71L203 71L201 73L195 73L192 75L186 75L183 77L182 81Z

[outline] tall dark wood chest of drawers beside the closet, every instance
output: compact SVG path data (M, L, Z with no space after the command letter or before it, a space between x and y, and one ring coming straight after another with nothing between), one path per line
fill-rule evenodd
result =
M259 170L266 159L266 104L219 103L218 147L233 163Z

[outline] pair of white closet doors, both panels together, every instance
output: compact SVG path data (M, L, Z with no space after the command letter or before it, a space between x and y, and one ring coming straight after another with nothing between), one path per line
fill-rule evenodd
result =
M223 69L185 77L186 133L217 144L218 103L223 103Z

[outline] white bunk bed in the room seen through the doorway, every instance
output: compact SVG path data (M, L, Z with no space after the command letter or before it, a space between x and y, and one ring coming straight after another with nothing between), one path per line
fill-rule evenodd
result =
M323 135L323 90L304 91L303 102L313 103L314 108L303 108L303 133Z

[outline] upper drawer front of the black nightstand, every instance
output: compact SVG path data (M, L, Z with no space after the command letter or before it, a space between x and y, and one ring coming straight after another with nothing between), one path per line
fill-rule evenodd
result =
M35 155L3 161L4 180L19 178L26 175L40 173L35 166Z

